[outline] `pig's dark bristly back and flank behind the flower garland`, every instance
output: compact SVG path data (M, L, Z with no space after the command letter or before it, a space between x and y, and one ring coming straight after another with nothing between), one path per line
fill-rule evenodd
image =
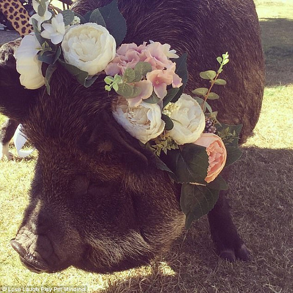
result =
M72 9L84 15L109 2L79 0ZM210 0L118 0L118 7L128 27L124 43L152 40L170 44L179 55L188 53L188 94L206 86L199 72L217 69L216 57L229 52L230 63L223 73L227 85L217 87L220 99L210 104L218 111L219 121L243 124L240 143L244 143L258 121L264 88L264 62L253 0L225 0L221 5Z

